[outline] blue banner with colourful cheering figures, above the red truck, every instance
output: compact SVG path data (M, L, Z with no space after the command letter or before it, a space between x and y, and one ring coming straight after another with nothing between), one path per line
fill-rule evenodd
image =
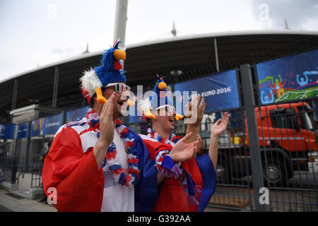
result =
M261 104L318 95L318 49L257 64Z

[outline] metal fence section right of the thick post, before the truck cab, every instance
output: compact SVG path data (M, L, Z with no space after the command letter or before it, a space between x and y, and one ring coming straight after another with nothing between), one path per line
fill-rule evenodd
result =
M270 209L318 210L317 127L312 125L313 113L307 102L258 107L264 184L273 191Z

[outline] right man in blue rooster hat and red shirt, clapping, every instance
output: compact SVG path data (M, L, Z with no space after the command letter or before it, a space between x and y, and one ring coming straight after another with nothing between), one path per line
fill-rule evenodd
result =
M182 119L183 116L175 111L172 99L167 95L167 85L163 78L158 76L158 82L153 91L154 94L150 95L149 99L144 99L142 105L144 116L150 121L151 128L148 129L148 135L139 135L149 150L151 160L155 161L158 174L165 177L158 186L160 193L153 210L159 212L203 211L216 188L218 136L228 126L228 113L225 112L223 119L219 119L211 127L208 154L189 157L189 160L182 162L178 159L178 155L187 155L187 153L173 153L170 150L179 145L180 140L172 131L175 129L175 119ZM189 117L196 119L192 124L187 125L185 136L188 138L187 142L199 140L202 143L199 137L199 126L205 106L204 98L199 95L193 97L192 102L187 104L186 116L188 119ZM191 114L189 114L190 111Z

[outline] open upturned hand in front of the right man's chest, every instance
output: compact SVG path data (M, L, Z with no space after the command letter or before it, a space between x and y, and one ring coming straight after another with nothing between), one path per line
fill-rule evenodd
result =
M179 140L170 151L169 155L174 162L184 162L192 159L192 157L196 155L197 150L199 150L200 141L196 140L192 143L187 143L191 136L192 133L188 133L187 136Z

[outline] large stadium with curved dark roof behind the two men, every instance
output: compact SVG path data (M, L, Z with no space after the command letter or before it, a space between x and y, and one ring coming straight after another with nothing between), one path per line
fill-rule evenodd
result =
M220 141L220 143L230 143L231 147L228 146L228 149L232 150L231 148L237 148L238 143L240 143L236 142L240 140L237 138L237 134L245 132L243 112L246 110L245 107L247 107L247 99L245 98L243 87L247 78L245 78L246 73L242 73L241 66L246 64L250 66L252 75L251 94L254 98L254 107L266 106L267 99L266 101L261 99L262 90L259 89L259 84L261 83L259 83L260 77L257 76L259 71L257 71L256 65L317 50L318 32L258 30L184 35L129 44L124 49L127 54L127 59L124 61L127 83L135 92L136 85L143 85L143 90L151 90L155 83L156 74L165 76L166 83L171 85L172 89L175 89L175 85L178 83L187 83L195 79L235 70L239 105L206 112L205 124L201 126L201 136L204 138L204 130L208 131L207 124L213 123L213 119L216 119L221 112L234 111L232 112L232 127L235 128L236 124L236 127L242 128L237 129L234 133L235 135L225 136L223 141ZM20 185L15 186L20 191L40 186L40 177L36 176L38 172L34 170L35 168L40 168L40 165L36 165L34 159L40 155L47 141L52 140L54 133L47 135L42 133L32 136L30 131L32 130L32 121L61 114L61 123L59 124L61 125L68 121L66 120L66 112L87 107L88 104L81 94L78 79L83 71L98 66L102 53L103 50L92 53L85 52L71 59L25 71L0 83L0 122L14 125L28 123L28 132L25 137L17 138L18 132L16 129L13 138L4 138L2 140L5 143L3 146L5 152L10 153L11 160L16 161L16 167L11 167L8 164L8 159L3 160L5 163L3 163L2 167L4 172L8 173L7 175L5 174L6 182L17 184L18 180ZM317 62L317 59L314 60ZM267 79L264 84L270 83L270 81L271 79ZM273 81L271 85L274 83ZM285 93L280 97L276 96L274 102L298 102L299 100L307 102L312 111L310 119L314 124L314 129L317 130L317 116L314 116L314 107L318 104L318 91L317 83L313 81L312 84L306 90L285 89ZM307 93L310 93L310 95L306 95ZM207 105L209 104L213 105L214 103L207 102ZM235 118L235 114L239 116ZM209 117L211 115L213 117ZM134 124L131 124L129 117L126 117L124 121L126 124L130 124L131 128L137 132L143 131L143 126L146 125L145 122L140 124L140 121L134 121ZM237 126L239 124L240 126ZM182 127L181 123L177 125L176 133L184 133L184 127ZM250 136L252 135L250 134ZM259 136L261 137L261 134ZM304 155L304 158L306 157L308 158L307 154ZM292 158L295 159L293 156ZM225 160L225 155L223 160L227 161ZM222 162L222 160L220 161ZM220 164L224 166L219 168L221 173L224 171L228 172L228 163L226 162L225 165ZM242 167L242 165L239 165L239 167ZM253 198L247 198L251 194L250 191L242 191L243 196L246 196L245 198L242 198L241 194L237 196L232 194L234 188L249 188L252 183L242 182L240 179L229 179L228 177L231 177L229 174L234 172L233 165L230 171L225 175L226 177L222 177L221 174L222 178L219 185L224 188L223 191L225 193L216 194L213 201L211 201L211 206L255 210L255 205L257 206L257 204L253 203ZM252 169L249 168L247 171L247 176L252 175ZM22 174L29 176L23 179ZM28 182L25 183L28 185L21 185L26 180ZM12 185L10 186L12 187ZM295 187L288 185L287 188L289 188L288 191L293 192ZM314 188L317 189L317 185L314 185ZM308 186L301 191L312 192L314 188L312 189L312 187ZM295 194L296 196L298 194ZM317 198L317 193L316 195L313 194L313 196ZM225 197L224 203L220 200L221 197ZM295 202L304 206L307 203L299 200ZM283 201L276 200L275 205L273 204L274 209L281 210L281 206L285 204ZM311 210L317 210L317 199L307 206Z

